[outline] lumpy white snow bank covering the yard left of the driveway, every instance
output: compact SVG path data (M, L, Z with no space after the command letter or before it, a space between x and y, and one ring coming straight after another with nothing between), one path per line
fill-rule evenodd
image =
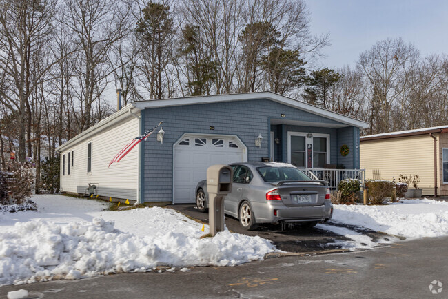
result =
M233 266L275 247L159 207L103 211L108 204L60 195L32 198L39 211L0 214L0 285L150 271L159 265ZM174 269L171 269L173 271Z

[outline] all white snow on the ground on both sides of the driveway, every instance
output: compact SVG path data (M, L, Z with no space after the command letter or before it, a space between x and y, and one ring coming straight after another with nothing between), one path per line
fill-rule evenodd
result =
M0 285L105 273L187 271L189 266L233 266L276 251L268 241L224 231L202 238L208 226L172 209L104 211L108 203L60 195L36 195L39 211L0 213ZM405 238L448 235L448 203L403 200L385 206L334 206L332 222ZM347 248L372 248L361 230L318 224L345 235ZM361 232L360 232L361 231ZM385 240L387 242L387 240Z

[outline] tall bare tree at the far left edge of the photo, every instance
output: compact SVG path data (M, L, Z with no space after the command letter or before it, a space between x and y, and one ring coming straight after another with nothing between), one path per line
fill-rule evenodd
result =
M51 64L33 69L34 52L39 52L51 38L56 0L4 0L0 2L0 68L7 86L0 88L0 101L11 111L19 111L19 160L31 156L30 95ZM28 119L28 122L27 122Z

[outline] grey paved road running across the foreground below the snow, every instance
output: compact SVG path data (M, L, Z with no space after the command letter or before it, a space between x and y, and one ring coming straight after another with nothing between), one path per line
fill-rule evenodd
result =
M448 298L448 238L394 243L371 251L289 256L185 273L99 276L0 288L28 298ZM441 293L429 284L440 280Z

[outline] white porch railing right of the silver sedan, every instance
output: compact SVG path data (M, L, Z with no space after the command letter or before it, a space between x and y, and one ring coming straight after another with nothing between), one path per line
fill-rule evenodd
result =
M338 190L338 184L342 180L355 179L363 184L365 179L365 169L325 169L325 168L306 168L302 169L309 177L316 180L325 180L332 190Z

